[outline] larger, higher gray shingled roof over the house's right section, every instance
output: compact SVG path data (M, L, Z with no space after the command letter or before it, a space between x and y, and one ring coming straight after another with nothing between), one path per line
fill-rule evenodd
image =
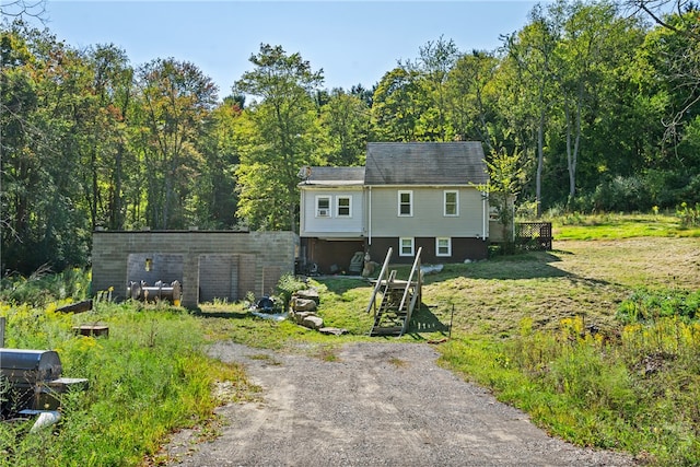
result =
M365 185L483 185L488 182L478 141L371 142Z

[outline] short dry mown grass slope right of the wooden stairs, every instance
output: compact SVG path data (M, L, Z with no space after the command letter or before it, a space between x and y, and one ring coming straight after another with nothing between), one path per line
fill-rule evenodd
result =
M638 288L698 287L700 242L644 237L556 241L552 252L447 266L427 277L423 302L441 322L455 307L454 330L510 336L523 318L537 328L582 316L602 328L618 326L615 313Z

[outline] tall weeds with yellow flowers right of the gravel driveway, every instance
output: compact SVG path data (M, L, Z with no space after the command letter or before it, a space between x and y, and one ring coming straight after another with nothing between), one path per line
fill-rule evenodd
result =
M452 340L443 363L564 440L653 465L700 463L700 324L663 318L610 336L586 332L581 318L557 331L525 320L521 332Z

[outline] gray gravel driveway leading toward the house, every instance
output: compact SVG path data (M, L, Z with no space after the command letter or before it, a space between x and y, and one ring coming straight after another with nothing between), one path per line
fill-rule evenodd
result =
M220 408L228 423L212 442L174 439L171 465L634 465L549 437L522 411L439 367L428 345L352 343L336 361L224 342L211 354L245 364L261 401Z

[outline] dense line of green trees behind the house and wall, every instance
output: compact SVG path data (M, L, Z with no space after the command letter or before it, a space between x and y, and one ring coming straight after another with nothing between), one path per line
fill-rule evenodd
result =
M699 12L665 3L539 4L495 50L439 37L350 90L261 44L223 98L195 63L4 17L2 269L88 265L95 229L296 231L300 167L368 141L482 141L533 215L700 202Z

